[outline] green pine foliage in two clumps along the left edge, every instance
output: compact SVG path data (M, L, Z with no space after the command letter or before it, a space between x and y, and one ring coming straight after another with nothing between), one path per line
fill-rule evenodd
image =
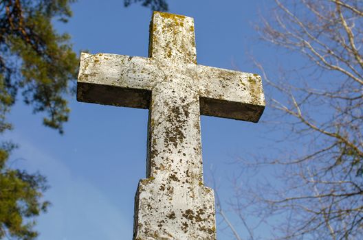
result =
M44 112L44 125L63 133L69 108L65 96L76 79L78 59L67 34L58 34L56 18L66 22L74 0L0 1L0 134L11 130L7 113L17 97ZM19 94L21 93L21 95ZM16 145L0 144L0 239L34 239L34 217L47 210L42 200L46 179L10 167Z

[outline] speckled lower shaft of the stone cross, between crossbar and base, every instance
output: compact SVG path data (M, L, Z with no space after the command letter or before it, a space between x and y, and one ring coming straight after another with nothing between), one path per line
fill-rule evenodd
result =
M148 122L148 178L201 184L199 97L163 82L154 88ZM167 171L166 171L167 170Z

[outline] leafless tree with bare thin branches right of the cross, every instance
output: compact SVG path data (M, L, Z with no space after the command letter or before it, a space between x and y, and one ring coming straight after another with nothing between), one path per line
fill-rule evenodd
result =
M277 169L279 180L235 181L230 206L263 219L268 239L363 239L363 1L275 2L257 30L298 63L273 78L256 65L288 134L280 154L240 163Z

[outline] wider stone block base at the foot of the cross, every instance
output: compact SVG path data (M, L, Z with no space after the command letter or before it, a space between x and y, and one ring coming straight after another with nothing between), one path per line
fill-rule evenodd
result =
M197 184L140 180L134 240L215 240L213 190Z

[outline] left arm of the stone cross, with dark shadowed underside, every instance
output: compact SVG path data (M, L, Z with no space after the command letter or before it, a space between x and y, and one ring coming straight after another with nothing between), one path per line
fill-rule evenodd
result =
M151 58L81 53L77 100L148 108L157 71Z

